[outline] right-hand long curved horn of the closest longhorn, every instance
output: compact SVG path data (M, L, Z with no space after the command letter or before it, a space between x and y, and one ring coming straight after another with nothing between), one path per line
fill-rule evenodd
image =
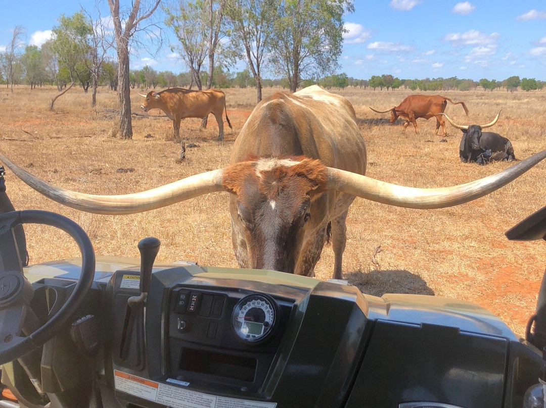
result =
M331 167L328 167L328 180L330 189L343 191L363 199L405 208L445 208L476 200L501 188L544 158L546 158L546 150L495 175L444 188L403 187Z

